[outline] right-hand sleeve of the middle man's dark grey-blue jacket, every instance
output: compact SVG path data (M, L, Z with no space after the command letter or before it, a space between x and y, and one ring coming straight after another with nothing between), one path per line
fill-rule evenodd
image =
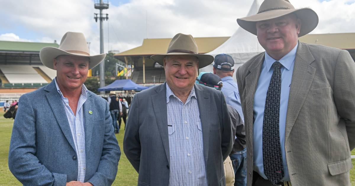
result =
M221 132L222 132L222 140L221 140L221 148L222 148L222 155L223 155L223 161L229 156L230 152L232 151L233 148L233 136L232 135L232 129L231 129L231 124L230 124L230 118L229 118L229 113L228 113L228 108L227 108L227 103L225 102L225 98L222 94L222 91L219 92L221 95L221 101L222 101L222 127L221 127Z

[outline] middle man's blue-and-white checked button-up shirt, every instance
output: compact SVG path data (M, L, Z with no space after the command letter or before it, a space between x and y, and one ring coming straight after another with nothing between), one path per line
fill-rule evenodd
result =
M169 186L207 186L200 112L195 88L184 103L166 84L170 152Z

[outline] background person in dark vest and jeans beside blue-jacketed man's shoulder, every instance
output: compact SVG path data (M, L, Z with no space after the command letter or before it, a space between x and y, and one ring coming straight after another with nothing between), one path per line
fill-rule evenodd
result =
M110 91L109 97L107 98L108 104L110 106L110 113L112 117L112 125L115 129L115 133L120 133L120 127L117 124L118 117L120 118L122 115L122 104L119 100L118 96L116 95L115 91ZM120 119L121 120L121 119Z

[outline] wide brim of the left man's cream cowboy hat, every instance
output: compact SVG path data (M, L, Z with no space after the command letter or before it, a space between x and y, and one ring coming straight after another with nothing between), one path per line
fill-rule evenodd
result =
M97 66L104 58L106 57L105 53L99 55L88 56L82 53L71 53L66 52L64 50L58 49L56 47L44 47L39 51L39 58L44 66L54 69L53 67L53 59L60 55L69 55L69 56L79 56L79 57L88 57L90 58L89 69Z

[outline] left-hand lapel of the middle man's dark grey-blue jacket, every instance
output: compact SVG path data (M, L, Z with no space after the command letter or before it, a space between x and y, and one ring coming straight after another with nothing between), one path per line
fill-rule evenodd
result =
M152 95L152 105L155 118L157 119L158 129L162 137L166 158L170 164L169 153L169 135L168 135L168 113L166 111L166 83L159 85L155 91L157 94Z

